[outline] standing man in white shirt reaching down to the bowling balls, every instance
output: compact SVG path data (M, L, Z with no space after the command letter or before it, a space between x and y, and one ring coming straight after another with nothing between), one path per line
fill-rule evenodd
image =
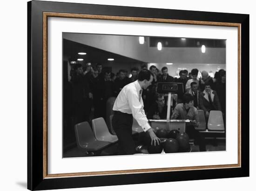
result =
M113 110L112 125L119 140L119 154L134 154L135 143L132 138L133 117L148 132L151 137L151 144L160 144L160 139L155 135L148 124L147 116L143 109L142 89L147 89L153 81L153 74L149 70L141 70L138 80L124 86L118 94Z

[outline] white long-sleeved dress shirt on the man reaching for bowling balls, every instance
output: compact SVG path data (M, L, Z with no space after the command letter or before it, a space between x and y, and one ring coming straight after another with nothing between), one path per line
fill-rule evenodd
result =
M113 110L132 114L135 120L138 121L138 124L142 127L143 131L146 132L151 127L148 124L148 119L145 115L142 97L139 95L140 90L141 86L138 83L138 80L124 86L115 99Z

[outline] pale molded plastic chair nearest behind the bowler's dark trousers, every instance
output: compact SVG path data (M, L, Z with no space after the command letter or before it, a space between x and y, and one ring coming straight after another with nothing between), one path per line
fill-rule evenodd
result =
M118 141L116 135L110 134L107 124L102 117L92 120L94 136L97 140L115 143Z

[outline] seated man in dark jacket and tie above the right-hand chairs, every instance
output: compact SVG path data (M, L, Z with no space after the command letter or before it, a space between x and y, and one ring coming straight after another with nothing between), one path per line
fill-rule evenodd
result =
M204 111L206 124L211 110L221 111L221 104L216 91L211 89L211 83L205 83L205 88L199 96L199 108Z

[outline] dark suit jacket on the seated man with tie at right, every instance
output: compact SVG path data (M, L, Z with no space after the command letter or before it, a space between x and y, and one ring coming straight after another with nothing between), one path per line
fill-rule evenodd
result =
M208 94L204 90L203 92L200 93L200 96L199 96L199 108L202 109L204 112L206 112L206 111L210 112L211 110L221 111L221 104L220 104L219 97L218 97L216 91L211 89L210 96L211 96L213 107L211 107L209 98L208 98Z

